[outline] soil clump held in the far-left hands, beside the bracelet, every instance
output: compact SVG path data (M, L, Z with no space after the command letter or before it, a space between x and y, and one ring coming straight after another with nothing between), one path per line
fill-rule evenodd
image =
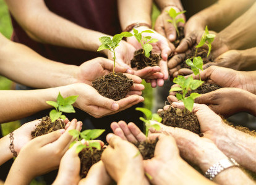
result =
M38 136L42 136L53 131L65 128L65 123L62 120L56 120L51 122L51 118L48 116L43 117L41 123L36 125L36 129L31 132L32 139Z

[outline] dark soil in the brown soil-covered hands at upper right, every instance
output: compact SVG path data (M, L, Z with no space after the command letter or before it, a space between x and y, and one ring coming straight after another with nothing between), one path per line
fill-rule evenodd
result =
M189 52L186 52L186 57L185 59L181 62L181 68L189 68L191 69L191 67L189 65L186 64L186 60L193 58L195 56L195 46L192 47L192 49ZM198 48L197 50L197 55L196 57L201 57L203 60L203 64L207 64L208 62L213 62L213 56L210 54L207 57L208 54L208 49L203 49L203 48Z

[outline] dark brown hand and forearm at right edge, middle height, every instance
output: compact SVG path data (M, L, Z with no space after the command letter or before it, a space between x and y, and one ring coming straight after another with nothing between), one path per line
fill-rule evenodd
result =
M231 94L232 96L230 96ZM221 88L216 91L201 94L201 96L195 99L195 103L206 104L213 112L228 118L237 112L249 112L255 116L255 100L255 94L243 89ZM178 102L174 95L170 95L168 101Z

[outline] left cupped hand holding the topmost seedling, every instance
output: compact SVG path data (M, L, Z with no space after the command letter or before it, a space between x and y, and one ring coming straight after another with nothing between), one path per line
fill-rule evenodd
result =
M161 14L158 16L155 23L155 30L165 38L168 38L171 42L176 40L177 33L174 25L167 21L170 19L168 12L171 8L175 9L176 12L181 12L181 10L183 10L181 3L176 6L168 6L161 10ZM179 18L186 20L184 14L177 15L177 19ZM179 22L178 27L184 27L184 23Z

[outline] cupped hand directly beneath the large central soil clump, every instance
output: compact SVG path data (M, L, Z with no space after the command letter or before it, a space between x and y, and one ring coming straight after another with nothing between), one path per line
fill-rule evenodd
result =
M79 95L74 104L75 107L89 113L95 118L104 117L105 115L120 112L132 105L139 104L139 102L144 101L143 97L138 95L141 94L141 92L134 91L138 89L142 90L144 87L142 84L137 84L140 81L140 78L138 78L139 77L134 81L134 86L131 87L132 91L128 92L127 97L119 101L103 97L96 91L96 89L92 88L92 86L83 83L70 84L69 86L66 86L68 91L67 96L74 94Z

